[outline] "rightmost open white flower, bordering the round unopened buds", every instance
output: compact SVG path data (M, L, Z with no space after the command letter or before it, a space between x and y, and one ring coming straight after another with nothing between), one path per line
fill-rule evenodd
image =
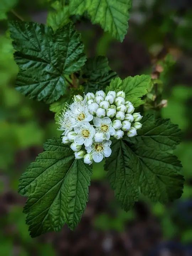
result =
M112 127L112 122L109 117L98 118L94 117L93 123L97 132L105 134L106 140L110 139L110 135L115 134L115 129Z

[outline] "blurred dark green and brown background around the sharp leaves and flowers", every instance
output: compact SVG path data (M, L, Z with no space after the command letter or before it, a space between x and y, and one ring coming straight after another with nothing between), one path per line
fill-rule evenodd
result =
M0 0L1 1L1 0ZM53 1L52 1L53 2ZM14 11L26 21L46 23L50 0L18 0ZM9 12L8 20L17 20ZM124 212L106 180L103 163L94 165L89 202L75 231L31 239L17 194L18 178L48 138L59 136L54 113L44 103L28 100L14 89L17 66L0 21L0 255L192 255L192 1L133 0L129 29L123 43L74 17L89 57L105 55L121 78L151 74L158 88L158 115L170 118L183 131L175 150L186 182L180 199L166 206L141 197ZM5 34L6 33L6 34ZM154 92L145 111L154 110ZM164 101L162 101L164 100Z

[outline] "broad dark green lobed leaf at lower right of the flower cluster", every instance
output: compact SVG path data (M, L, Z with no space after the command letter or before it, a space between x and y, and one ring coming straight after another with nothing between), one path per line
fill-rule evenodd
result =
M129 210L139 194L152 202L167 203L180 198L184 178L181 163L169 151L179 143L180 131L169 120L147 116L134 138L113 140L105 169L121 207Z

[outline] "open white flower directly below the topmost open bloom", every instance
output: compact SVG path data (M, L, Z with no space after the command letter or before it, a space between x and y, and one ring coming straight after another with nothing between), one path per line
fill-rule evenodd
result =
M74 142L77 145L85 145L89 146L92 144L92 138L95 135L95 129L91 126L90 123L84 122L79 127L74 128L76 136L74 138Z

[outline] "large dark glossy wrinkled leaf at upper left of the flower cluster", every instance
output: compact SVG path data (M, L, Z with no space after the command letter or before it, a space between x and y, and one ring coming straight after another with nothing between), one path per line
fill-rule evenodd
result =
M65 93L65 75L81 69L84 45L72 23L59 28L35 22L11 22L11 38L20 69L16 89L38 101L52 103Z

